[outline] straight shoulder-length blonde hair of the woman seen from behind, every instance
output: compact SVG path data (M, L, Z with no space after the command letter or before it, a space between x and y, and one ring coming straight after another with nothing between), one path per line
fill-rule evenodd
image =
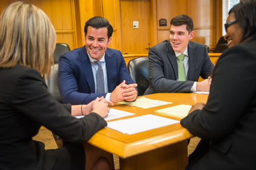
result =
M56 33L50 19L39 8L14 2L0 16L0 67L16 64L50 74Z

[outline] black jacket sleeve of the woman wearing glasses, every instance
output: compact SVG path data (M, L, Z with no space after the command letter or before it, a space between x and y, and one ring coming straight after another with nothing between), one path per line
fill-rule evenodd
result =
M241 45L226 50L213 71L209 99L202 110L181 120L193 135L219 140L231 134L256 93L256 57Z

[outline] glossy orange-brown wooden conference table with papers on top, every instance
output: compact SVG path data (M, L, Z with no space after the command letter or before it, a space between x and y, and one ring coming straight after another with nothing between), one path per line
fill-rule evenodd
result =
M114 104L114 106L110 108L135 113L135 115L122 117L120 119L152 114L181 120L177 117L154 113L154 111L178 104L193 105L199 102L206 103L208 96L208 94L196 93L157 93L149 94L145 97L172 102L172 104L149 109L127 106L126 104ZM109 120L109 122L114 120ZM187 139L192 137L193 135L191 135L187 129L183 128L180 123L176 123L134 135L127 135L110 128L104 128L92 136L92 138L88 140L88 143L119 156L120 170L185 169L188 163Z

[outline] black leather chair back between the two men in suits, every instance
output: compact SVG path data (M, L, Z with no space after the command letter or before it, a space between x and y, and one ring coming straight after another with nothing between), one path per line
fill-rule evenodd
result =
M149 87L148 57L133 58L127 67L135 83L137 83L138 96L142 96Z

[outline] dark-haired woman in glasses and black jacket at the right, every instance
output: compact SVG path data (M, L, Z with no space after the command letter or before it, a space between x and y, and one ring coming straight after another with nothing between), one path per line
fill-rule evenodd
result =
M216 63L207 104L181 120L212 143L186 169L256 168L256 0L233 6L225 29L229 48Z

